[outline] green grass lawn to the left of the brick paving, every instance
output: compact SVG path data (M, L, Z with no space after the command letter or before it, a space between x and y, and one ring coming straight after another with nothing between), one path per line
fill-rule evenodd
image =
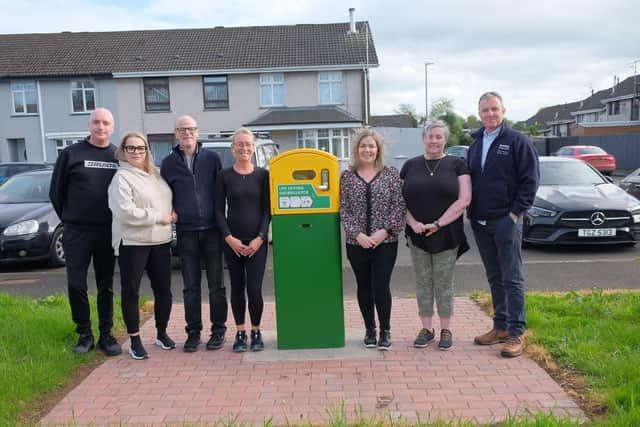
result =
M97 325L95 298L91 305ZM114 330L122 330L118 299L114 312ZM0 425L16 425L20 415L29 418L37 400L63 386L79 365L95 360L95 351L88 356L71 351L76 340L66 296L34 300L0 293Z

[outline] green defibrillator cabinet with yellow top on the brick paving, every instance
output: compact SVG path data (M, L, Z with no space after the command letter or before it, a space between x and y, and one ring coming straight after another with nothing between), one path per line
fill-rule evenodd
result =
M344 347L339 174L321 150L269 163L279 349Z

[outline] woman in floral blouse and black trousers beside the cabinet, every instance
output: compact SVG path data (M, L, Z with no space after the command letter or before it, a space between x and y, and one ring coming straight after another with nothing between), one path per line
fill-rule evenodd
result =
M400 175L395 168L384 165L380 134L364 129L355 138L351 165L340 177L340 219L347 239L347 258L358 284L366 347L391 347L389 282L404 216ZM375 311L380 322L379 339Z

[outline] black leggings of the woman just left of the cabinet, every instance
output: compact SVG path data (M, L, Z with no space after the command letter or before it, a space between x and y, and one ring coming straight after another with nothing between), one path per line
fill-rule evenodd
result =
M243 241L248 245L248 241ZM251 326L260 326L264 301L262 299L262 279L267 263L267 247L264 242L260 249L251 257L237 256L225 243L224 254L229 266L229 281L231 282L231 311L236 325L244 325L247 301L249 300L249 317Z

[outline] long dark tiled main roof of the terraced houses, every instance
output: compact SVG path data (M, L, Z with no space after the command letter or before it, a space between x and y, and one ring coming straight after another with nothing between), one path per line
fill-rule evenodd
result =
M366 22L0 35L0 78L378 65ZM368 37L365 37L368 34Z

